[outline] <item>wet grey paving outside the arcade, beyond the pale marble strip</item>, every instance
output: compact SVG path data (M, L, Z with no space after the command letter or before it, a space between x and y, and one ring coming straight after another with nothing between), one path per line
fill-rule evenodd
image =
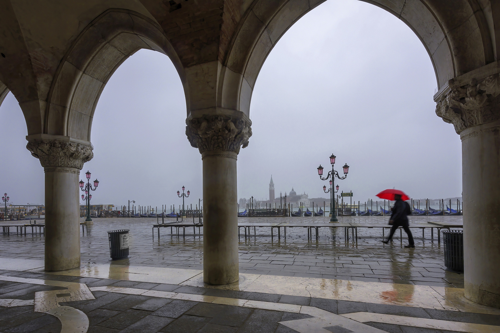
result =
M461 216L410 217L413 222L459 222ZM84 221L82 218L81 221ZM319 222L324 218L239 218L239 222ZM9 224L12 222L8 221ZM386 223L387 217L339 217L339 222ZM103 218L94 219L88 232L81 234L82 263L106 264L109 247L106 231L130 229L130 258L115 264L154 267L176 267L202 269L203 237L193 235L192 228L186 236L170 234L170 228L161 228L158 239L152 224L156 219ZM15 229L14 229L15 230ZM300 276L341 280L374 282L396 282L415 285L430 285L463 288L463 275L445 271L443 245L430 238L426 230L424 238L419 229L413 230L415 249L405 249L406 235L399 239L396 232L393 242L384 245L380 241L380 229L359 229L358 239L344 240L342 228L320 228L319 239L307 238L306 228L287 228L286 238L270 237L270 228L255 228L256 236L241 235L239 238L239 267L241 273ZM434 230L435 231L435 230ZM43 259L43 237L0 236L2 257ZM242 232L242 229L241 229ZM386 230L388 232L388 230ZM387 233L385 234L387 236Z

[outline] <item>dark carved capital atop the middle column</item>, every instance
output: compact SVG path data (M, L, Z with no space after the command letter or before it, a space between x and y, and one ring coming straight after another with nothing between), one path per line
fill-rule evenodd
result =
M222 115L204 115L186 120L186 135L189 143L200 153L207 151L230 151L239 153L239 148L248 146L251 136L251 121Z

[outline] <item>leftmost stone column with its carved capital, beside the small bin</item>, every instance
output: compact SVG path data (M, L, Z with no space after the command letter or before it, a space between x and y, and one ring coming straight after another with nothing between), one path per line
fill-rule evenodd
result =
M80 266L79 186L89 142L67 136L30 135L26 148L45 171L45 271Z

